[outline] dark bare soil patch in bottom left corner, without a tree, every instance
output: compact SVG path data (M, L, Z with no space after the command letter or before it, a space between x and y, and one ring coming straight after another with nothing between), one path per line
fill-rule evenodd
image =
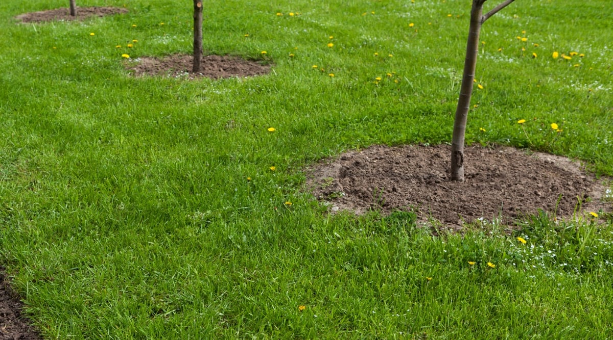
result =
M0 340L40 340L30 320L20 315L23 303L19 300L0 267Z

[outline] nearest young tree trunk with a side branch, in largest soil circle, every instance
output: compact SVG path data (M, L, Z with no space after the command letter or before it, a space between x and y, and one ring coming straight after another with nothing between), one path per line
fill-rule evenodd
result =
M499 10L508 6L514 0L505 0L489 12L483 14L483 4L487 0L473 0L470 11L470 28L468 42L466 43L466 59L458 106L455 109L454 134L451 140L451 180L463 182L464 180L464 135L466 132L466 116L470 106L470 97L473 93L474 70L477 65L477 52L479 50L479 32L485 20L492 17Z

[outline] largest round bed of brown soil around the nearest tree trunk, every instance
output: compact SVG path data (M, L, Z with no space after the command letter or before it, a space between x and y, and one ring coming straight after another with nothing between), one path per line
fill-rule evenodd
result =
M373 146L321 161L307 170L307 183L332 212L413 210L455 231L475 221L513 226L539 210L572 218L580 202L584 214L613 207L611 180L568 158L511 147L464 151L465 182L449 179L450 146Z

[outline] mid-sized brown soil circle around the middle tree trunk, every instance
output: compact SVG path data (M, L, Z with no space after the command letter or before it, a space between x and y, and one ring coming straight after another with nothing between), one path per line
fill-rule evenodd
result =
M154 57L140 57L137 63L126 63L126 68L132 70L134 75L170 76L189 79L208 77L213 79L264 75L270 72L270 65L263 65L257 61L248 61L232 56L205 56L202 57L202 71L192 72L194 57L188 54L173 54L161 59Z

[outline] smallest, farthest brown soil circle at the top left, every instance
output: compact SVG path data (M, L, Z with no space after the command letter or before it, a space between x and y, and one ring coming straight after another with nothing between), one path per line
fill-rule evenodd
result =
M24 13L20 14L15 19L22 23L44 23L46 21L70 21L70 20L84 20L89 17L104 17L105 15L113 15L119 13L126 13L127 9L121 7L77 7L77 15L72 17L70 15L70 9L51 9L43 10L40 12Z

